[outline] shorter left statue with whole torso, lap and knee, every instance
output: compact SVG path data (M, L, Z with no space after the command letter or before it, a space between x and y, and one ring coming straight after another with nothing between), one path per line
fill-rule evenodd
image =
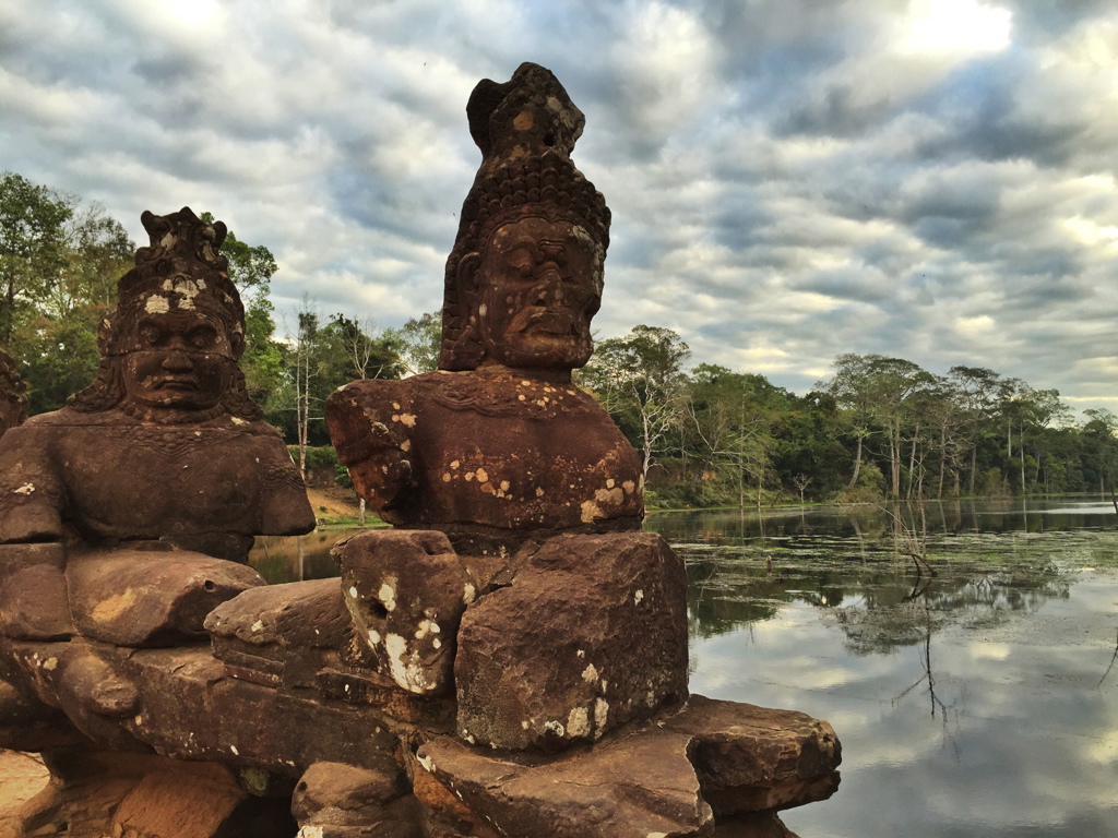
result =
M314 528L237 365L225 225L142 220L96 380L0 440L0 745L134 749L125 659L208 640L206 615L264 583L243 563L254 535Z

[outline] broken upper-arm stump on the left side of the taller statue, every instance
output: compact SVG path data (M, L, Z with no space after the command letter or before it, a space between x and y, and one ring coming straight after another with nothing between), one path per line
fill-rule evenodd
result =
M395 523L394 507L417 485L410 401L404 382L381 380L354 381L326 400L326 427L338 458L358 494L389 523Z

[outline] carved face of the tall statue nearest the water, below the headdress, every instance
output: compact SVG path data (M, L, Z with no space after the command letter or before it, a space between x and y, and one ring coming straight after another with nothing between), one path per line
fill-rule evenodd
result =
M581 227L532 217L504 225L490 238L475 279L489 359L568 370L590 360L601 260Z

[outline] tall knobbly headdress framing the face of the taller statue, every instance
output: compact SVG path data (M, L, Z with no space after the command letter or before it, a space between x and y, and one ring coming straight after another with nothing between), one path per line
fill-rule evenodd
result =
M552 73L522 64L512 79L482 79L466 105L482 164L462 204L458 236L446 261L439 368L470 370L484 354L475 313L465 311L458 266L481 253L504 223L524 216L566 219L582 227L605 258L609 209L570 160L586 117Z

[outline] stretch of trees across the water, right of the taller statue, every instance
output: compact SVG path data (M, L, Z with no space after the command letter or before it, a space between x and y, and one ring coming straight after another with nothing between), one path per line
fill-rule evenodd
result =
M1110 492L1118 417L979 366L845 353L806 396L714 364L667 328L601 341L579 382L641 454L655 503L872 502Z

